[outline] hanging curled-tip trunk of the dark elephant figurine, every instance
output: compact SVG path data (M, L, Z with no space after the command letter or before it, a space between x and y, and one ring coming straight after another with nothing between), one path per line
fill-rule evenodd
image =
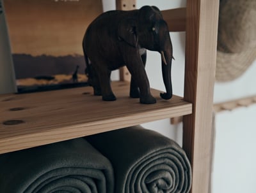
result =
M161 93L160 96L163 99L170 99L172 98L172 42L169 36L168 41L165 41L165 50L161 50L161 60L162 60L162 74L163 74L163 82L166 89L166 92Z

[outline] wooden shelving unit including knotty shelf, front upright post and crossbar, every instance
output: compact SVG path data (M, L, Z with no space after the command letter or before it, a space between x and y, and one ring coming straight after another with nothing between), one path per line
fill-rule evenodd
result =
M168 117L183 118L183 148L193 169L191 192L209 189L212 97L216 64L217 0L188 0L163 11L170 31L186 30L184 99L157 97L140 104L127 82L114 82L117 101L92 96L91 87L0 96L0 154Z

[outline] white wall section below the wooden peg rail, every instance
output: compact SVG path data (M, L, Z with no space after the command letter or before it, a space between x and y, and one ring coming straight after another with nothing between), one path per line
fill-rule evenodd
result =
M256 104L216 115L212 193L255 193Z

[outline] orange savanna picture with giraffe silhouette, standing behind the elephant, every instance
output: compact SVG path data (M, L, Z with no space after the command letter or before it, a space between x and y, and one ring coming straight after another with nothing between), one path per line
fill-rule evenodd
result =
M101 0L3 0L18 92L87 85L82 41Z

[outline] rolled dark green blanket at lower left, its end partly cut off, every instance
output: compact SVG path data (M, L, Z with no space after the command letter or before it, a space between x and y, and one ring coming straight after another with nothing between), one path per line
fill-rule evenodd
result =
M0 155L0 192L113 193L111 163L85 139Z

